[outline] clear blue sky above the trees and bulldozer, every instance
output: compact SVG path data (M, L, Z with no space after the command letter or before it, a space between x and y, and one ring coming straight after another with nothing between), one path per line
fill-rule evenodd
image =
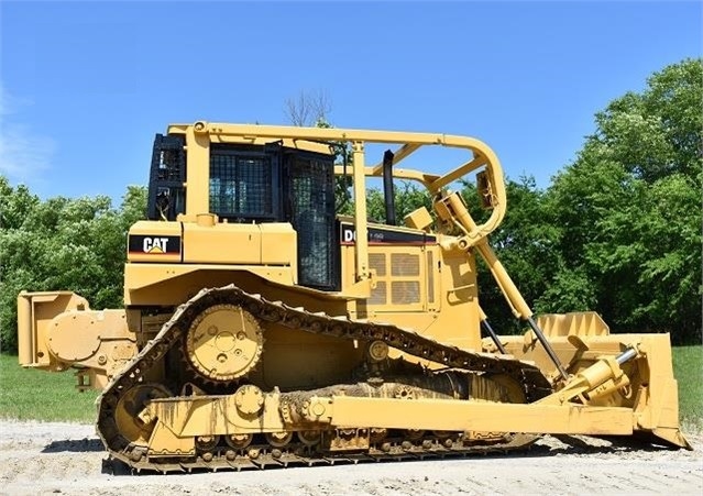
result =
M322 92L338 128L474 136L547 188L595 112L701 57L702 23L697 1L2 0L0 174L119 206L169 123L289 124Z

